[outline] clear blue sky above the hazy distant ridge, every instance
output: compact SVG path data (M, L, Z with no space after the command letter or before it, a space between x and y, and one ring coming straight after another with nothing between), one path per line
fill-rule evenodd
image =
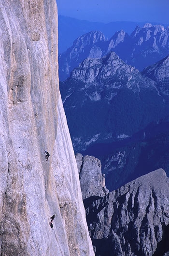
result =
M169 23L169 0L56 0L58 14L89 21Z

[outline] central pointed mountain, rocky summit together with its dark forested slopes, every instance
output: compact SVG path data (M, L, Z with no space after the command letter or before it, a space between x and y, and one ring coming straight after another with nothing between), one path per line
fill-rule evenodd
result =
M71 135L75 152L83 152L89 146L93 152L94 143L128 138L158 120L163 112L163 98L155 85L153 80L143 76L113 51L101 58L84 59L71 72L70 78L60 85L70 126L73 123ZM86 109L90 114L84 113ZM144 112L149 113L146 122L142 121L145 120ZM95 118L96 113L98 118ZM80 116L76 122L73 120L75 114ZM84 127L87 125L90 128L86 129L86 135Z

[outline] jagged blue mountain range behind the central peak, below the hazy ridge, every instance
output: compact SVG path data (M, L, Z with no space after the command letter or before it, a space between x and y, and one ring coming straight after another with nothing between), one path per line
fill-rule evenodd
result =
M136 26L130 35L121 29L109 40L100 31L90 31L59 55L60 81L66 80L85 58L103 57L110 51L142 71L169 55L169 27L146 23L143 27Z

